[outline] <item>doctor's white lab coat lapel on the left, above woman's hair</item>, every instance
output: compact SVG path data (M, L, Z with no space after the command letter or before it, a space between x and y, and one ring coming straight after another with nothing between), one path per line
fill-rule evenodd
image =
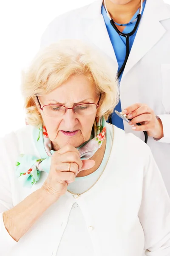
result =
M102 52L105 52L106 55L112 58L113 65L117 70L118 64L116 55L101 14L101 6L102 0L98 0L86 11L83 17L83 19L85 19L84 22L88 24L85 29L85 36L88 38L88 41L95 44Z

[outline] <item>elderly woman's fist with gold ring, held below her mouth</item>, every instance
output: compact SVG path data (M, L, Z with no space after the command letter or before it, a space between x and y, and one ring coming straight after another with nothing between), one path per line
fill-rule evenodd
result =
M94 165L94 160L81 160L78 149L66 145L52 155L50 172L42 187L58 198L65 194L68 184L74 182L80 171L90 169Z

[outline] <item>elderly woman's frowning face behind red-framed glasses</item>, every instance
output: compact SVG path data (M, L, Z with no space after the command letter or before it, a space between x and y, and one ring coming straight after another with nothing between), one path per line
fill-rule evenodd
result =
M96 95L94 85L84 75L79 75L72 76L51 93L39 96L39 100L41 106L57 104L72 108L77 104L97 103L99 96ZM68 109L62 116L50 117L40 110L53 149L58 150L67 144L78 147L89 140L96 112L94 108L90 115L81 116L74 113L73 109Z

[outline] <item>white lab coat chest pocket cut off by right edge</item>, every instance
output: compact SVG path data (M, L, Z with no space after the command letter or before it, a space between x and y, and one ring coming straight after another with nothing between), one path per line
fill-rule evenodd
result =
M162 104L165 111L170 111L170 64L161 64Z

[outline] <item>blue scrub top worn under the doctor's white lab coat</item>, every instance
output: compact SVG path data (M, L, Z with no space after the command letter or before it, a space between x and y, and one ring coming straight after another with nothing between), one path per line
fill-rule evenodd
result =
M143 14L143 11L144 11L145 3L146 3L146 0L144 0L144 2L143 2L142 14ZM139 13L139 9L135 13L135 15L132 17L130 22L133 21L136 18L138 13ZM105 7L103 5L102 5L102 15L103 15L103 18L105 20L105 25L106 25L106 28L108 30L108 35L110 37L110 40L111 40L111 43L112 43L112 46L113 46L113 49L114 49L114 52L115 52L115 55L116 55L116 59L117 59L118 65L119 65L119 67L118 67L118 71L119 71L120 68L122 67L122 64L123 64L124 60L125 60L126 39L125 39L125 37L119 35L116 32L116 30L113 28L113 26L111 25L110 20L107 16ZM136 24L136 22L134 22L134 23L132 23L128 26L125 26L125 29L123 30L123 33L126 33L126 34L130 33L134 29L135 24ZM137 30L136 30L136 32L137 32ZM130 50L131 50L133 42L135 40L136 32L133 35L131 35L130 38L129 38ZM122 79L122 74L123 74L123 72L121 73L121 75L119 77L119 82ZM122 111L120 101L119 101L118 105L116 105L114 110L117 110L119 112ZM112 124L116 125L117 127L124 130L123 120L118 115L116 115L116 113L112 114Z

